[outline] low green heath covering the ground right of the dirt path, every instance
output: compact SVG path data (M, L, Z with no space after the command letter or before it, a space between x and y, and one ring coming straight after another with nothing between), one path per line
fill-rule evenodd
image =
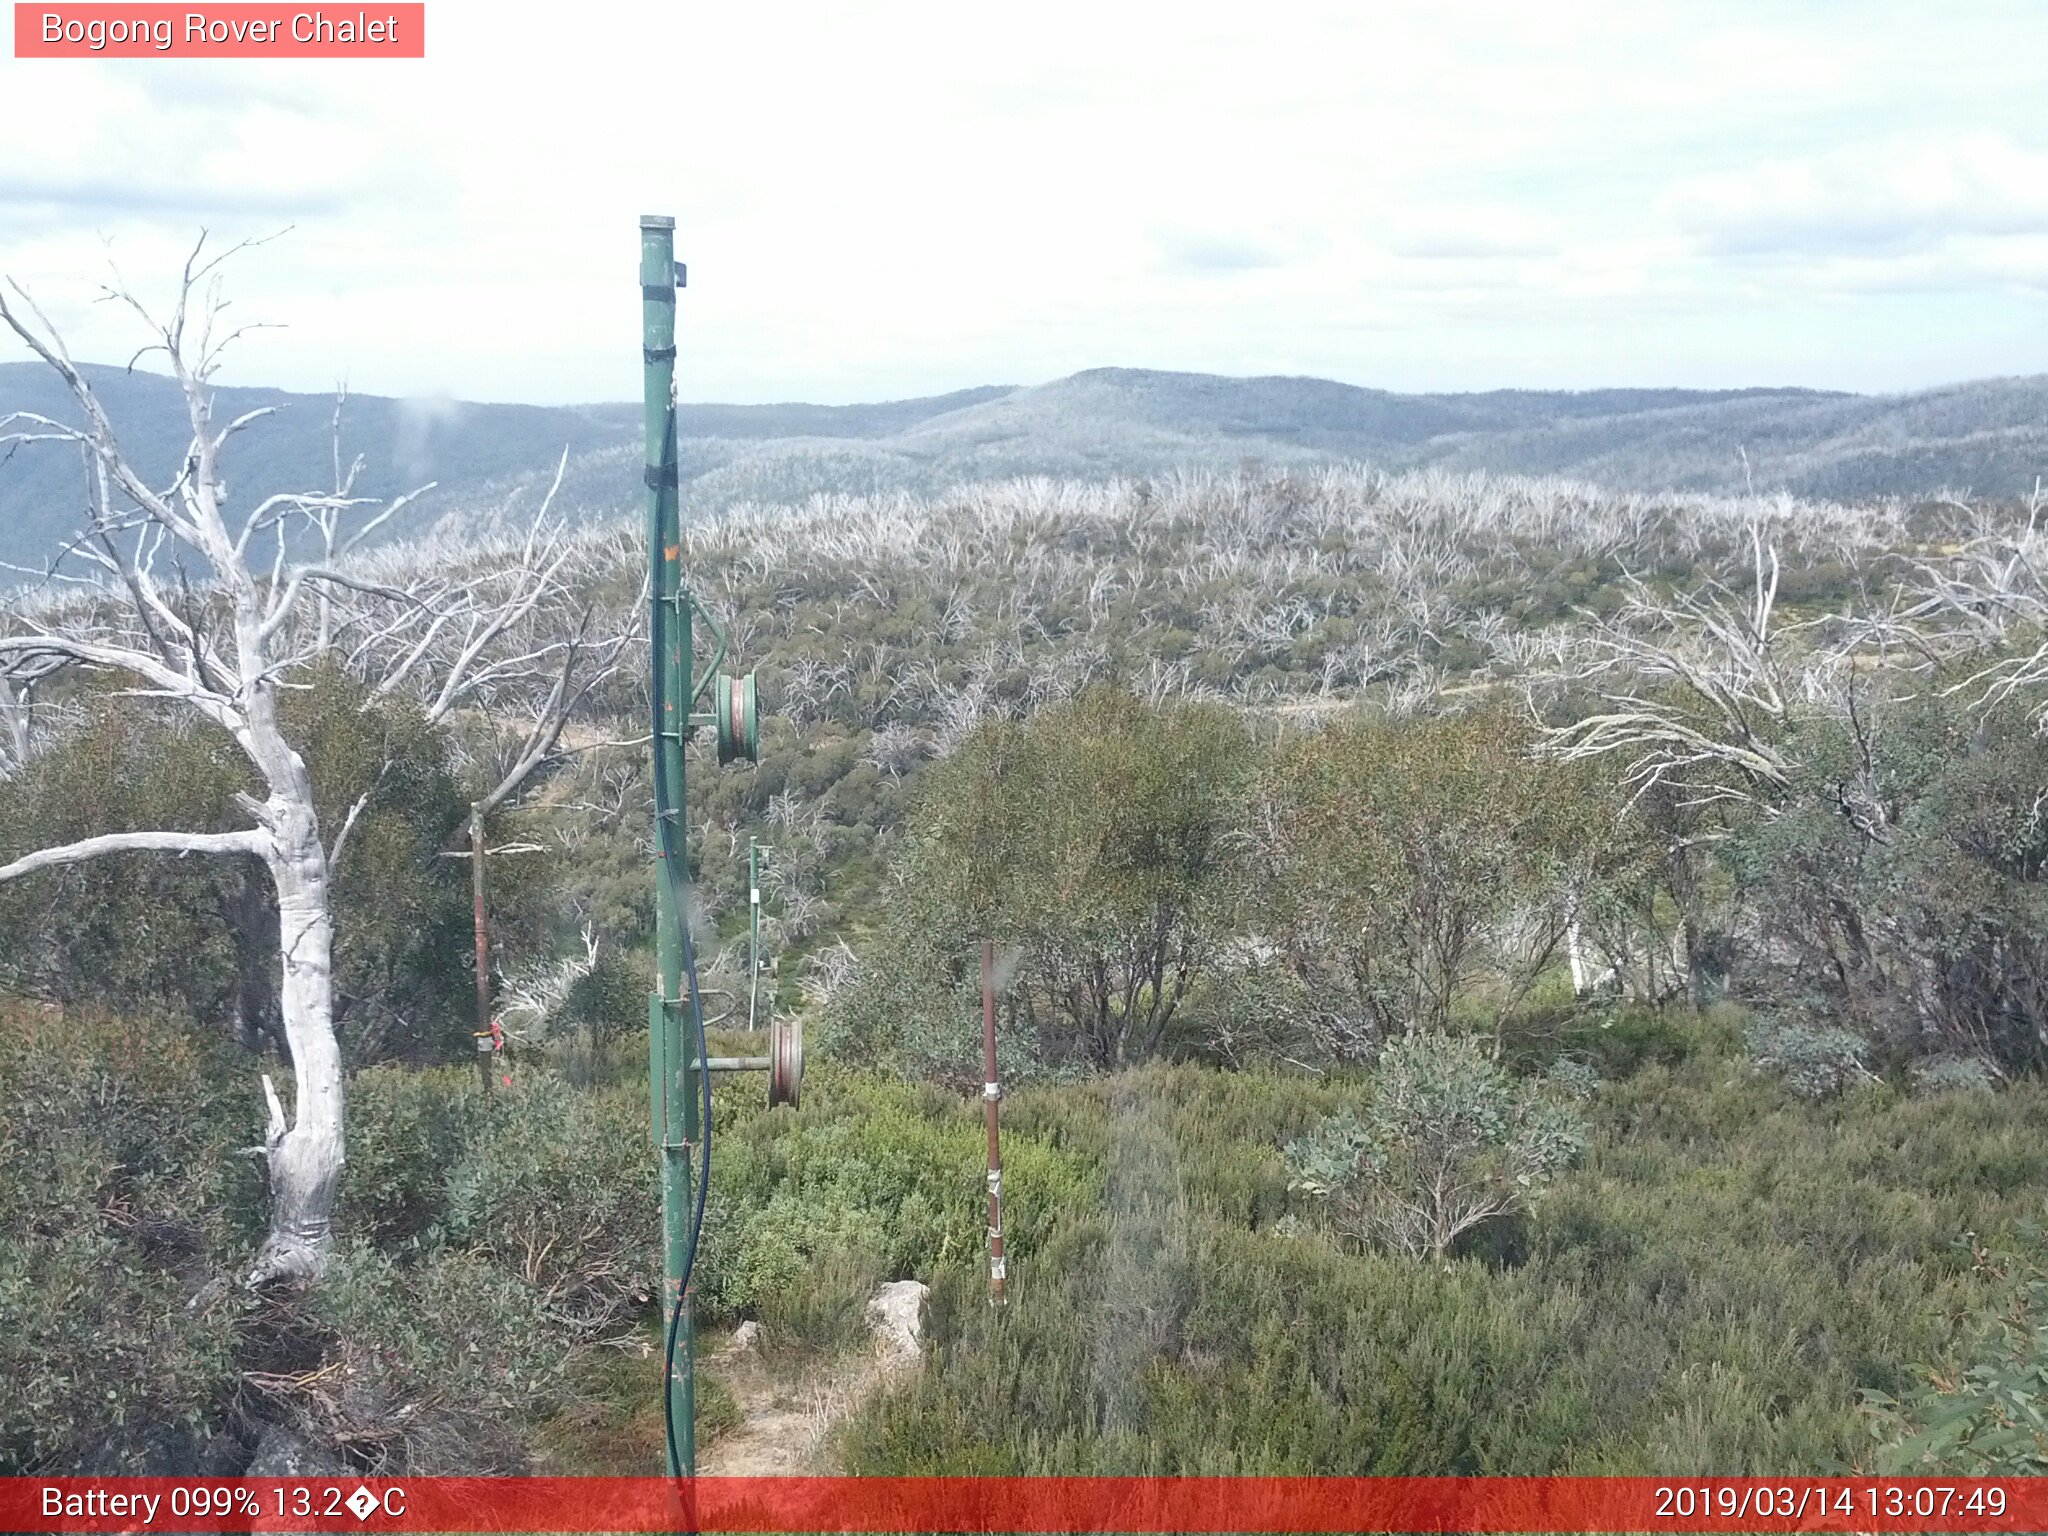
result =
M1608 1081L1483 1260L1352 1255L1282 1221L1280 1147L1346 1098L1188 1067L1020 1096L1122 1194L1012 1245L1006 1313L977 1264L934 1276L926 1370L858 1415L848 1470L1849 1470L1860 1391L1980 1305L1956 1227L2048 1188L2038 1083L1815 1106L1716 1049Z

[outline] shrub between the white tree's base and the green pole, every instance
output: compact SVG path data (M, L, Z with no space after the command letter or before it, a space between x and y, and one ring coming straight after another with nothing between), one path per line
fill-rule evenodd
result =
M295 1315L276 1411L408 1473L528 1470L541 1425L588 1427L590 1356L655 1309L645 1114L645 1090L537 1067L489 1102L463 1067L352 1073L350 1249Z

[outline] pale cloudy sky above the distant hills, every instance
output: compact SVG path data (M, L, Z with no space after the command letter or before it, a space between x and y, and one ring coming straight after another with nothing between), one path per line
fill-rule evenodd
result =
M686 399L1087 367L1401 391L2048 371L2048 6L428 0L424 59L0 57L0 272L223 383ZM0 360L23 356L12 338Z

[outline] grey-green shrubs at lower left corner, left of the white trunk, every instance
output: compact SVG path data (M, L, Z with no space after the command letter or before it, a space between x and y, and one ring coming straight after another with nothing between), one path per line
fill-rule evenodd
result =
M0 1473L219 1432L244 1307L188 1303L252 1247L254 1124L213 1040L0 1001Z

